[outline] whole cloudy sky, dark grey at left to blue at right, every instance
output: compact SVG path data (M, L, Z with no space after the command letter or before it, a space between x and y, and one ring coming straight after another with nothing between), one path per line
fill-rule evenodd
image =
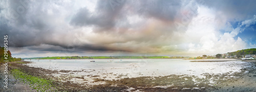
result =
M13 57L202 56L256 48L256 1L0 1ZM0 46L4 46L0 44Z

